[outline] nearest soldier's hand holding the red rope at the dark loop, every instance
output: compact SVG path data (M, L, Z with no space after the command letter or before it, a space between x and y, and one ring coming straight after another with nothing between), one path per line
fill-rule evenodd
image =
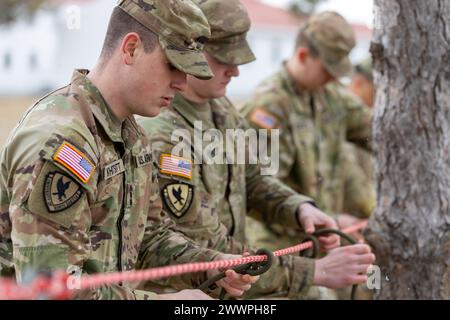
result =
M244 256L249 255L248 253L244 253ZM216 260L228 260L228 259L238 259L241 258L240 255L232 255L232 254L221 254ZM219 273L218 270L210 270L208 271L208 277L212 277ZM244 294L244 292L250 290L252 284L259 280L259 276L250 276L248 274L238 274L234 270L225 271L226 277L217 281L216 285L225 289L225 291L233 297L240 297Z

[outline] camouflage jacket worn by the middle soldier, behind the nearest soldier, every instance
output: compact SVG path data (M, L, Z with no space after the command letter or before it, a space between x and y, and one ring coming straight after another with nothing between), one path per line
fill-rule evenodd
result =
M209 129L219 130L222 137L226 136L227 129L249 129L245 119L239 116L228 99L212 100L209 106L212 112L211 121L202 122L202 133L205 136ZM296 209L301 203L312 200L295 193L274 177L260 175L258 165L207 164L204 161L202 164L195 164L192 156L191 159L185 159L192 164L190 176L183 177L176 172L174 174L165 170L163 159L172 154L179 142L172 139L174 130L184 130L184 137L193 138L194 122L200 120L197 106L179 94L175 97L172 107L163 109L158 117L138 119L138 123L152 141L155 161L159 159L163 211L176 221L177 228L205 247L242 254L248 250L245 235L248 209L257 209L262 214L260 218L268 223L298 226ZM199 150L194 149L192 140L183 139L182 143L186 144L188 150L193 151L192 154L198 153ZM236 143L234 148L236 154ZM225 151L225 146L220 150ZM201 159L201 155L196 156ZM223 156L225 157L225 154ZM181 193L182 188L185 190L182 197L173 198L173 194L176 195L177 190ZM176 202L182 201L183 205L177 207ZM298 294L311 285L313 263L303 258L284 258L282 264L289 267L277 275L284 277L280 279L278 286L283 286L288 294ZM277 285L277 281L272 282Z

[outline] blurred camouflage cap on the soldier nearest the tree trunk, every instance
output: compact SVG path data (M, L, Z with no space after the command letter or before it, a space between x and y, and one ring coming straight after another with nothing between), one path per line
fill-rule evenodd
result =
M331 75L341 78L352 71L348 55L355 47L355 34L341 15L332 11L313 15L306 21L301 32L317 49Z

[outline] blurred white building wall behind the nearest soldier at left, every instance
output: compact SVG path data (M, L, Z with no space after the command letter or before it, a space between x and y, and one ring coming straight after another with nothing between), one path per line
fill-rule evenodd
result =
M97 0L64 5L41 11L31 21L1 27L0 95L47 92L67 84L75 68L92 68L113 4Z

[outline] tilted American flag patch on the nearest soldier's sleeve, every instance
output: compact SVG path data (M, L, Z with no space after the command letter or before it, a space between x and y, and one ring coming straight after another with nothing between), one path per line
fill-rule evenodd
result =
M59 147L53 160L69 169L84 183L89 181L96 168L82 152L67 141Z

